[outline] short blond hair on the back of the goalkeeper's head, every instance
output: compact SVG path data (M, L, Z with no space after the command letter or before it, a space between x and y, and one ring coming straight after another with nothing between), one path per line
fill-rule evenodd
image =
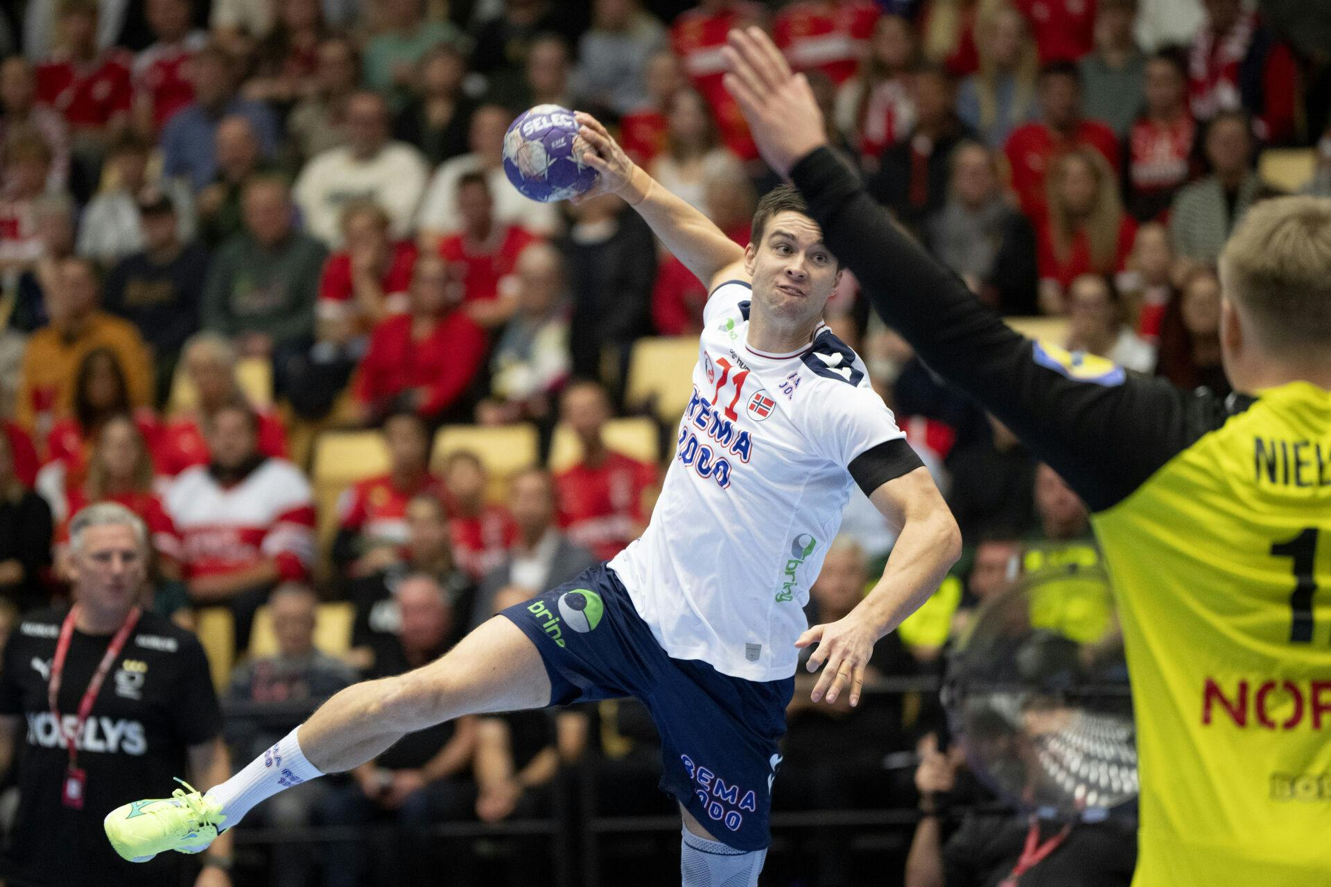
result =
M1331 347L1331 198L1250 209L1221 253L1221 279L1267 346Z

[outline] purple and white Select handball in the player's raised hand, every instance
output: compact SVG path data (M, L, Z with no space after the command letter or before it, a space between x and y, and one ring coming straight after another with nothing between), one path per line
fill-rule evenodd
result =
M587 141L578 134L574 112L536 105L508 126L503 137L503 172L523 195L542 203L568 199L596 182L583 162Z

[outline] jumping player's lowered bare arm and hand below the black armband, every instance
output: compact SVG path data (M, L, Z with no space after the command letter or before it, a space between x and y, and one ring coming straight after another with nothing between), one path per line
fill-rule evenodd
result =
M809 697L815 702L823 697L836 702L849 688L851 705L858 705L873 645L920 609L961 556L961 531L928 468L881 484L869 500L900 535L873 590L844 618L815 625L795 642L817 641L811 672L827 664Z

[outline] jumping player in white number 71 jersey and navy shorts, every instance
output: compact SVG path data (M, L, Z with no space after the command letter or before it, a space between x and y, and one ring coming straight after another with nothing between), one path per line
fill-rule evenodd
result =
M823 323L841 266L799 193L764 197L740 247L596 120L578 120L600 173L580 199L622 197L711 293L675 459L642 539L435 662L338 693L206 795L112 811L106 834L126 859L197 851L265 798L442 721L632 696L662 737L662 789L680 803L683 883L756 884L797 648L817 645L815 702L849 693L857 705L873 645L956 561L957 525L928 471L864 362ZM900 535L858 606L808 628L808 588L852 484Z

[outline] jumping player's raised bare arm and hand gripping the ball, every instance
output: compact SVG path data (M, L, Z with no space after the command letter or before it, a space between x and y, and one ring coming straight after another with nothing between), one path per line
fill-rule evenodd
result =
M728 279L748 279L744 247L631 161L600 121L580 110L576 117L582 125L579 134L591 146L583 157L600 177L591 190L575 197L574 203L604 193L622 197L708 291Z

